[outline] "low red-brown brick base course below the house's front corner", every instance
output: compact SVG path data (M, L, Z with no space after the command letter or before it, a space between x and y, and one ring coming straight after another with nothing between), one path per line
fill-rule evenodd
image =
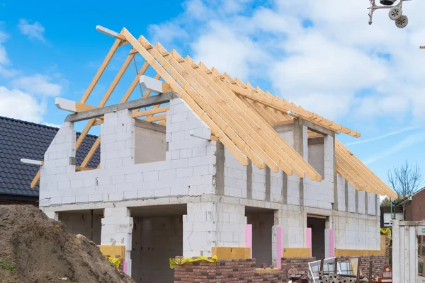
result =
M282 269L276 272L256 272L256 260L218 260L212 262L193 262L187 265L176 265L175 283L221 283L221 282L287 282L288 270L297 268L308 270L307 262L315 258L283 258ZM263 271L263 270L261 270Z

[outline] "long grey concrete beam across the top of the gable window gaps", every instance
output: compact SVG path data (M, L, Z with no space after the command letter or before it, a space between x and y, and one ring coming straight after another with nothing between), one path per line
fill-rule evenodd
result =
M93 110L88 110L84 112L78 112L70 114L65 119L65 122L78 122L82 120L89 120L92 118L101 117L107 113L120 111L120 110L133 110L137 108L144 108L153 105L158 105L162 103L169 102L170 99L174 98L174 93L162 93L157 96L149 96L147 98L140 98L125 103L115 104L111 106L106 106L103 108L96 108Z

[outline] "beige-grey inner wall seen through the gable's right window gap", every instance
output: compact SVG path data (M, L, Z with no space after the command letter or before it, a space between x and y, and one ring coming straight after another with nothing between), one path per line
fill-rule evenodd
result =
M166 141L164 133L144 129L136 125L135 134L136 164L165 160Z

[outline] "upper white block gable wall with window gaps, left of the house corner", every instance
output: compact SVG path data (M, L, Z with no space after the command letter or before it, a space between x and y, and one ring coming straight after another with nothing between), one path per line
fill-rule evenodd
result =
M122 110L105 116L101 169L75 172L70 165L75 156L75 132L72 123L65 123L45 154L40 207L212 194L216 143L190 136L191 130L210 135L210 129L180 98L171 100L170 108L166 127L169 151L165 161L152 163L135 164L135 121L130 111Z

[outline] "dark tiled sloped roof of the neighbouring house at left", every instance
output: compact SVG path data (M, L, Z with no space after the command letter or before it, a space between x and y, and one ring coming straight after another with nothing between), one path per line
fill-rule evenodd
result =
M38 197L38 185L30 183L40 166L21 163L21 158L42 161L45 151L59 129L0 116L0 194ZM77 133L79 137L79 133ZM77 151L77 165L81 164L96 136L88 135ZM91 159L89 167L96 168L100 151Z

